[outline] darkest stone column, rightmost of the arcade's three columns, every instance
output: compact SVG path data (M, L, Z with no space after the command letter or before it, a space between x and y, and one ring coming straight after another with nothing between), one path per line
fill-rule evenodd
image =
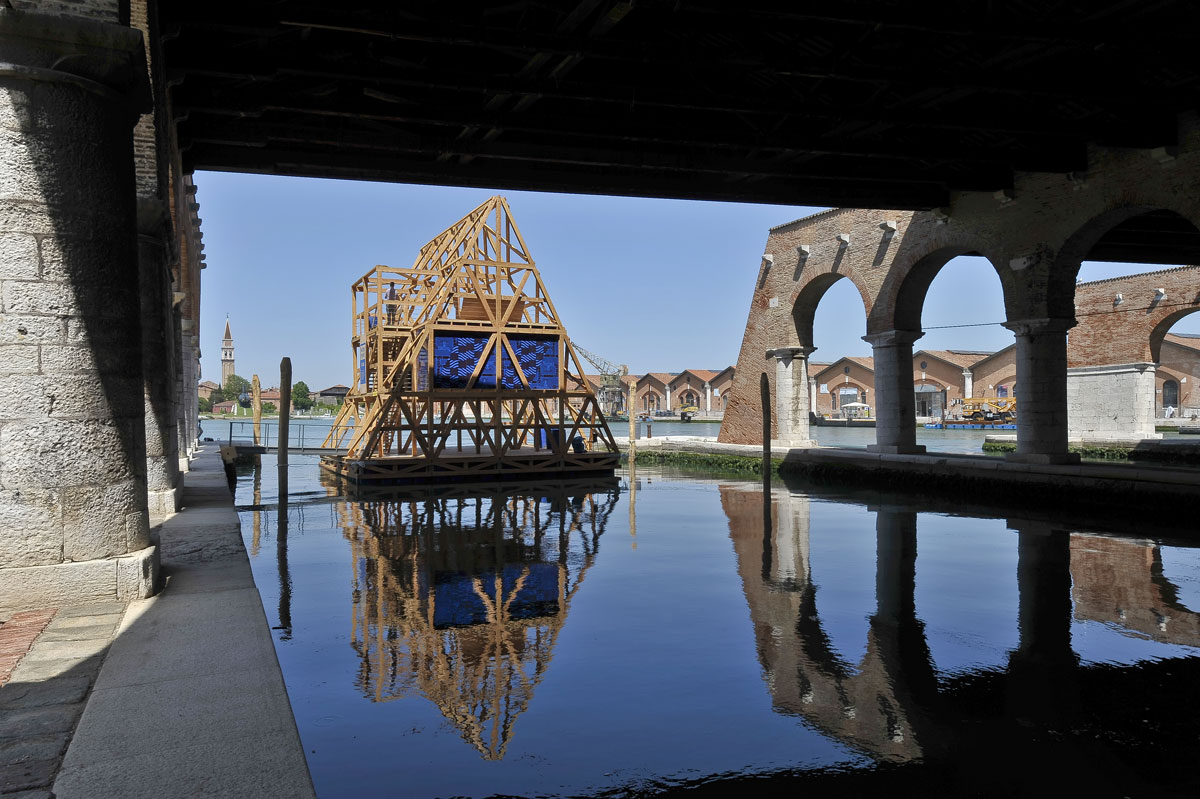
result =
M1016 335L1016 452L1020 463L1078 463L1067 451L1067 331L1074 319L1021 319Z

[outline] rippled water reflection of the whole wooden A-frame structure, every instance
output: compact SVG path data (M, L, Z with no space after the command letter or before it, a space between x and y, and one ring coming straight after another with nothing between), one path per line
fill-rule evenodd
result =
M419 692L503 758L617 497L616 481L568 481L338 504L364 695Z

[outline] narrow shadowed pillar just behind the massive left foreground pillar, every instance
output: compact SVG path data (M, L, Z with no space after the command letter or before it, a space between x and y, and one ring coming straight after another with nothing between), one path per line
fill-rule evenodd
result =
M174 313L170 274L167 271L169 227L164 204L151 199L138 200L146 497L154 517L169 516L179 510Z

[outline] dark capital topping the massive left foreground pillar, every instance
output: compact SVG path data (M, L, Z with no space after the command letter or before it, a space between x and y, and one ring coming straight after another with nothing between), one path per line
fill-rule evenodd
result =
M74 85L137 114L152 108L136 28L0 7L0 77Z

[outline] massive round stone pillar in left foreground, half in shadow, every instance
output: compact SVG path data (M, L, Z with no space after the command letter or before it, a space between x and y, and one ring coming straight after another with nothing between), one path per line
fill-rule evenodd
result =
M148 596L140 32L0 7L0 608Z

